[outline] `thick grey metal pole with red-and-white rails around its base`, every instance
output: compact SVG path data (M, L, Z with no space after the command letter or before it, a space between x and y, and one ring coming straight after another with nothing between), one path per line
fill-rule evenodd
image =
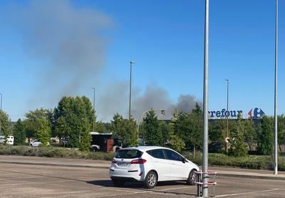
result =
M208 172L208 46L209 46L209 0L205 0L204 18L204 97L203 97L203 172ZM208 182L203 174L203 182ZM203 197L208 197L208 185L203 185Z

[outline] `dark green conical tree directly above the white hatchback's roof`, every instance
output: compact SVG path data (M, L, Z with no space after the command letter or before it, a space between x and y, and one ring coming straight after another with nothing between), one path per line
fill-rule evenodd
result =
M159 121L155 115L155 111L151 110L143 118L144 137L146 145L150 146L162 146L162 132L159 130Z

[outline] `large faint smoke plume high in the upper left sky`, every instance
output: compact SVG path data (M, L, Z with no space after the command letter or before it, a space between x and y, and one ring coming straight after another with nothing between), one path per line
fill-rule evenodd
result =
M103 68L108 39L102 35L112 24L108 16L76 9L66 0L32 0L24 6L9 4L2 11L2 20L22 36L24 51L41 62L33 68L38 97L30 103L41 98L42 103L56 104L63 95L78 95L80 88L90 87Z

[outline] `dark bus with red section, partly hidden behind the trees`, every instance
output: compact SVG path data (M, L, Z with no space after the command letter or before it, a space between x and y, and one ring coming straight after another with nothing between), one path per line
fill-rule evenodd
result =
M112 132L90 132L90 135L92 137L90 151L117 152L122 148L120 141L113 137Z

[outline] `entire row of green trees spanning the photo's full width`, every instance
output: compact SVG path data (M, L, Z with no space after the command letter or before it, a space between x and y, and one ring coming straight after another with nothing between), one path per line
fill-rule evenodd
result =
M69 146L88 150L90 131L95 121L95 112L90 100L83 97L63 97L54 110L36 109L29 111L24 120L18 120L14 127L9 125L9 116L0 112L1 131L5 136L13 134L14 144L24 144L26 137L37 138L46 145L50 137L70 137ZM110 123L95 123L97 132L113 132L120 138L123 147L138 145L138 137L144 137L146 145L170 145L175 150L202 150L202 109L198 104L192 113L175 113L170 122L157 120L155 111L150 110L142 123L125 119L118 113ZM279 116L278 140L285 144L285 117ZM226 150L226 120L209 121L209 150ZM248 150L271 154L273 147L273 118L264 116L260 122L254 120L229 120L228 155L247 155Z

